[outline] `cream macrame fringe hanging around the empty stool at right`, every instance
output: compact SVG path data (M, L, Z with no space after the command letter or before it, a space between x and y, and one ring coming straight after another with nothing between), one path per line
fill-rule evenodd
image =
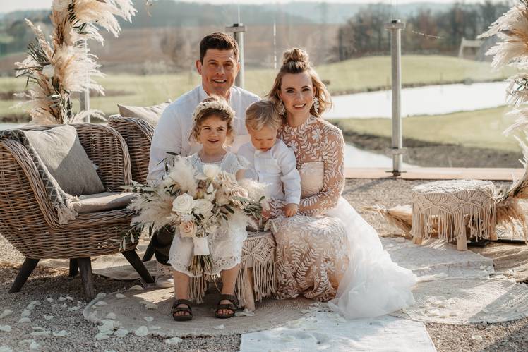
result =
M441 199L431 199L431 195L428 198L430 204L441 204ZM465 204L449 211L438 206L415 211L412 215L413 238L431 238L435 222L438 238L444 241L466 241L466 234L477 240L490 238L495 233L497 223L495 200L490 198L483 204Z

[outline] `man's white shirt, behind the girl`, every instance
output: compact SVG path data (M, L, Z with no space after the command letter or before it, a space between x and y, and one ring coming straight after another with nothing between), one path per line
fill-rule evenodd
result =
M189 139L193 128L193 112L200 102L207 99L209 95L203 90L202 85L186 92L170 104L164 111L157 123L150 145L150 160L148 164L149 183L155 183L164 175L164 159L173 152L187 157L198 151L201 146L192 139ZM233 86L229 93L229 105L235 112L233 121L234 143L232 152L236 152L238 147L249 140L246 129L246 109L253 102L260 100L260 97L247 90Z

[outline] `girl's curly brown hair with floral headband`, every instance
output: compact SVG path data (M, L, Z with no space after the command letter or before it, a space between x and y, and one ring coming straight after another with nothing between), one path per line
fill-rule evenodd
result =
M192 138L198 142L200 137L200 129L202 128L202 123L211 116L217 116L221 121L227 122L227 138L226 144L230 145L233 142L233 119L234 119L234 110L232 107L229 107L229 104L222 97L212 95L211 97L205 99L203 102L198 104L198 107L194 109L193 112L193 129L191 130L191 135L189 135L189 140Z

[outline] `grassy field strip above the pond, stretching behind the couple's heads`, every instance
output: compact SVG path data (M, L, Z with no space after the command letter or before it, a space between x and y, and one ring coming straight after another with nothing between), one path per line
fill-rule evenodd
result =
M332 93L376 90L390 85L390 57L373 56L331 63L316 68L320 77L329 82ZM451 56L403 56L402 83L404 85L430 85L467 81L499 80L512 75L512 69L491 72L489 63L458 59ZM246 89L265 95L276 72L269 69L246 70ZM181 93L198 85L197 73L167 75L108 75L98 80L109 92L109 97L90 99L92 109L105 114L116 114L116 104L152 105L175 99ZM23 78L0 78L1 92L24 90ZM23 110L9 109L15 101L0 99L0 116L22 114Z

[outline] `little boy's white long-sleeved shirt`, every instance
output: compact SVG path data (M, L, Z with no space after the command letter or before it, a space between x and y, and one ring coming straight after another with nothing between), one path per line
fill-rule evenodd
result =
M278 140L270 150L256 150L250 143L239 148L237 153L249 163L248 170L258 176L258 182L265 183L266 195L285 200L287 204L299 205L301 200L301 176L293 150Z

